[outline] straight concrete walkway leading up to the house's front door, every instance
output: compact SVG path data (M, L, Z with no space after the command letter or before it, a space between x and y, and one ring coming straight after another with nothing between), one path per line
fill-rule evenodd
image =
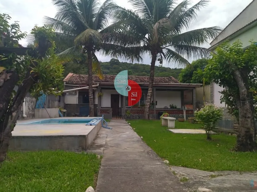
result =
M89 150L103 154L96 192L187 191L126 121L112 121Z

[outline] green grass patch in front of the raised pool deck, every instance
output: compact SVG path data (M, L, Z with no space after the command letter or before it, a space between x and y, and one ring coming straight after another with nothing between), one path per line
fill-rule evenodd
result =
M9 152L0 165L0 191L84 192L95 187L100 161L75 152Z

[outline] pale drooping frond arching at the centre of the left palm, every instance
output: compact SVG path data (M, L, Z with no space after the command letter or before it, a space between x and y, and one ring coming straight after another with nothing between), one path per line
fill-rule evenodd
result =
M86 42L93 41L95 44L99 44L102 42L102 36L98 31L93 29L86 29L81 34L79 34L74 42L76 45L84 44Z

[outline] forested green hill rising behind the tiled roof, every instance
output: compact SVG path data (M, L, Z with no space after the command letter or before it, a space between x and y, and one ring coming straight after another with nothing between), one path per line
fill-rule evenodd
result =
M128 75L138 75L138 76L149 76L150 65L146 64L131 64L127 62L120 62L117 59L111 59L108 62L100 62L101 69L105 75L117 75L123 70L128 70ZM64 76L69 73L76 74L87 74L87 68L84 64L74 64L67 63L64 65L65 71ZM178 75L181 69L171 69L167 67L155 66L154 76L157 77L167 77L173 76L178 79Z

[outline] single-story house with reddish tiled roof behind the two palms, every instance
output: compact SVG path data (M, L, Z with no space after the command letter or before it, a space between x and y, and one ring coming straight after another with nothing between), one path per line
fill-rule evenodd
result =
M115 77L115 75L104 75L104 78L100 79L98 76L93 75L95 116L104 115L105 118L123 118L126 114L130 113L134 114L134 116L132 115L134 118L140 118L144 114L149 77L128 76L128 80L135 81L142 89L142 96L138 106L133 107L128 106L126 96L122 96L116 91L114 87ZM88 86L88 75L69 73L64 79L65 90L86 86ZM171 116L178 116L183 114L185 106L186 115L193 116L196 106L195 88L200 86L201 84L180 83L171 76L154 77L152 102L155 105L150 110L151 118L158 118L162 111L166 111ZM65 92L64 98L64 108L67 110L67 116L71 116L74 113L79 113L81 116L89 115L88 88Z

